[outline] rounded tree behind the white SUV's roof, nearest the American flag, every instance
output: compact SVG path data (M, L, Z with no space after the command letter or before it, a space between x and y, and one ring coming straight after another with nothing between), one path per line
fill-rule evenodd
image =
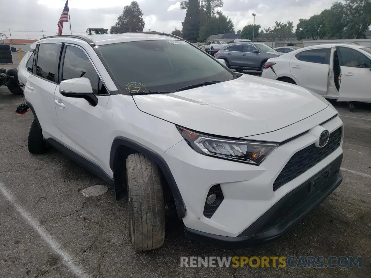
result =
M137 1L132 1L130 6L125 6L117 22L111 27L110 33L142 32L144 29L142 10Z

